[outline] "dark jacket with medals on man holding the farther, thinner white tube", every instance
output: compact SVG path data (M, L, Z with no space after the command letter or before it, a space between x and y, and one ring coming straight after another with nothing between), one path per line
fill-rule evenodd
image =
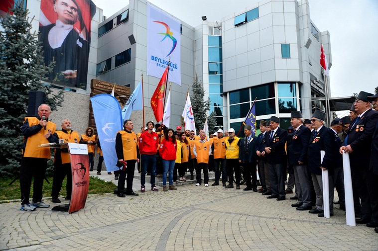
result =
M335 141L335 133L332 129L323 126L317 132L316 138L312 139L310 136L310 143L308 145L308 170L311 173L322 174L320 167L325 167L329 170L329 175L333 174L333 167L337 167L340 144ZM325 152L323 162L321 162L320 151Z

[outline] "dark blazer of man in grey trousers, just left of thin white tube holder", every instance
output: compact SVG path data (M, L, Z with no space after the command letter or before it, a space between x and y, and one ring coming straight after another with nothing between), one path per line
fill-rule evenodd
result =
M289 163L298 166L298 161L307 165L307 147L310 141L311 130L302 125L298 130L294 131L289 146Z

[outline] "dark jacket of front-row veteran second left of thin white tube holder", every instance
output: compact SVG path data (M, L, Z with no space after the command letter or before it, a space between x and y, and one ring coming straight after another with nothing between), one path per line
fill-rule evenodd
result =
M262 147L270 147L270 154L265 152L265 156L269 164L282 164L287 165L287 157L285 151L285 143L287 140L287 132L278 127L273 139L270 141L270 133L265 133ZM264 150L265 151L265 150Z

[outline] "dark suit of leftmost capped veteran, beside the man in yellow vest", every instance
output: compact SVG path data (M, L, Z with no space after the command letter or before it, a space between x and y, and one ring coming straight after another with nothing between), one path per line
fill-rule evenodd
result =
M257 175L256 175L256 143L257 138L251 135L251 139L246 144L248 138L244 137L240 139L240 148L239 148L239 161L241 161L244 167L244 180L246 181L247 187L257 188ZM252 182L251 182L252 176Z

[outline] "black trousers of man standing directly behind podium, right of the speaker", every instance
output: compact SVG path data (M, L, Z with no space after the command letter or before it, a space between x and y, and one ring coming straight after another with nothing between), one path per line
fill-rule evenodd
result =
M62 189L63 179L66 175L67 175L67 184L66 184L67 197L71 198L71 193L72 193L71 163L54 165L54 177L52 180L52 189L51 189L52 197L59 196L59 192Z

